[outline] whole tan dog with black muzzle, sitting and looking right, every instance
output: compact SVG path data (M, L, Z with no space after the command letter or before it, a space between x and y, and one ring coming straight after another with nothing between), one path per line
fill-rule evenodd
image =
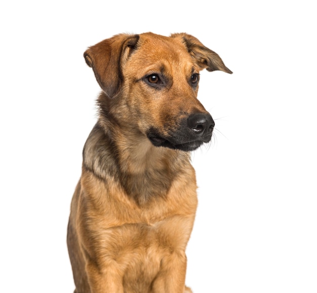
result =
M199 71L232 73L185 33L118 34L84 54L103 92L83 151L67 244L76 293L183 293L197 205L188 151L214 121Z

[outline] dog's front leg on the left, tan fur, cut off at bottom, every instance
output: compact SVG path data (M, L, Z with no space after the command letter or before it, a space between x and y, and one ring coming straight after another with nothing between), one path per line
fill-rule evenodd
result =
M91 293L124 293L122 276L114 265L98 268L90 263L86 271Z

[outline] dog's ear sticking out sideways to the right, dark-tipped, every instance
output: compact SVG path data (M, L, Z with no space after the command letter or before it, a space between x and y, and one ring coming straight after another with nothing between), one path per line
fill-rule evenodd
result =
M198 39L187 33L173 33L172 38L181 38L189 54L196 60L201 70L206 68L208 71L221 70L232 74L227 68L219 55L205 47Z

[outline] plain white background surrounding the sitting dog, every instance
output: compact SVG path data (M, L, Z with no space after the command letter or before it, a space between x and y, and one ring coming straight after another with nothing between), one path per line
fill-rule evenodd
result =
M196 36L234 72L202 72L217 130L192 156L187 285L317 292L316 27L305 0L3 1L0 291L73 291L66 226L99 92L83 53L153 31Z

